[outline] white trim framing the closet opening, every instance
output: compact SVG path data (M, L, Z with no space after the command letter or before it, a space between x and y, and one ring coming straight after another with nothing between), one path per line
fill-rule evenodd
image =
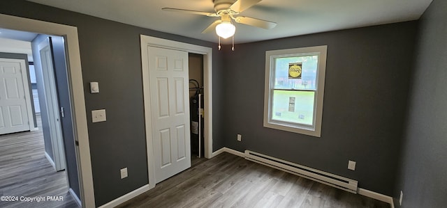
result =
M194 54L203 54L203 86L205 94L205 157L212 157L212 48L199 45L191 45L174 40L155 38L147 35L140 35L141 57L142 57L142 84L145 102L145 127L146 127L146 145L147 145L147 166L149 172L149 186L155 186L154 168L152 167L152 120L150 112L149 95L149 63L147 60L147 47L162 47L166 49L175 49L187 51Z

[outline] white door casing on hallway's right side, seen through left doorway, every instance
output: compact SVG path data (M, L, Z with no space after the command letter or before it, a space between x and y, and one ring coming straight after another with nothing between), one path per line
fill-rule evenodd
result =
M43 85L45 86L44 96L46 106L43 107L46 108L50 125L50 141L52 143L54 168L59 171L64 170L66 166L64 138L59 115L59 98L57 95L56 80L54 78L53 56L48 38L45 38L44 41L39 43L38 49L41 55Z

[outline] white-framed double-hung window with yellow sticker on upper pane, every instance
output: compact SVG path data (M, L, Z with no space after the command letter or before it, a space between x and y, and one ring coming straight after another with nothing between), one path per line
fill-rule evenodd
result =
M264 127L321 136L327 48L265 52Z

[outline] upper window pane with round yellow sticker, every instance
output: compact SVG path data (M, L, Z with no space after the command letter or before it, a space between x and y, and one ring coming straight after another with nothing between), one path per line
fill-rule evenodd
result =
M274 58L274 88L316 90L318 55Z

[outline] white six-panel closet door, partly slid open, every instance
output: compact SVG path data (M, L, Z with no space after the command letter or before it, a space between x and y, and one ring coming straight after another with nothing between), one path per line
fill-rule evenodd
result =
M148 47L156 183L191 167L188 53Z

